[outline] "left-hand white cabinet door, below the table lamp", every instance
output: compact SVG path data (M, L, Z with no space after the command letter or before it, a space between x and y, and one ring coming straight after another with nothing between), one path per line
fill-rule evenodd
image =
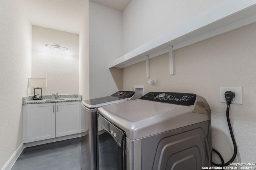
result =
M28 104L26 143L55 137L55 103Z

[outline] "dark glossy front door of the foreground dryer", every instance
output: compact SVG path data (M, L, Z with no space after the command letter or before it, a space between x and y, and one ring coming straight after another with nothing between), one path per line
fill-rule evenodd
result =
M99 170L126 170L126 135L98 113Z

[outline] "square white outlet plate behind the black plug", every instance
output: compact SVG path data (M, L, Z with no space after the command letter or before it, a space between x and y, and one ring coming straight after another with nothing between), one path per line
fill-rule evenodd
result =
M236 94L236 96L232 100L232 104L243 104L242 87L220 87L220 102L221 103L226 103L226 99L225 99L226 91L231 91Z

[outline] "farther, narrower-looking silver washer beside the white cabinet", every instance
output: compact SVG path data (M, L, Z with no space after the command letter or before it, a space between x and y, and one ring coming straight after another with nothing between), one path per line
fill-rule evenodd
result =
M97 170L97 111L101 106L126 102L140 98L140 94L130 91L118 91L111 96L94 98L81 102L86 111L86 132L81 137L82 170Z

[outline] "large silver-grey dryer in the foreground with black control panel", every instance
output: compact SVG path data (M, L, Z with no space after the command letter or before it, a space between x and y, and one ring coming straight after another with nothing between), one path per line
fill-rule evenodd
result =
M98 109L99 170L211 166L211 110L190 93L150 92Z

